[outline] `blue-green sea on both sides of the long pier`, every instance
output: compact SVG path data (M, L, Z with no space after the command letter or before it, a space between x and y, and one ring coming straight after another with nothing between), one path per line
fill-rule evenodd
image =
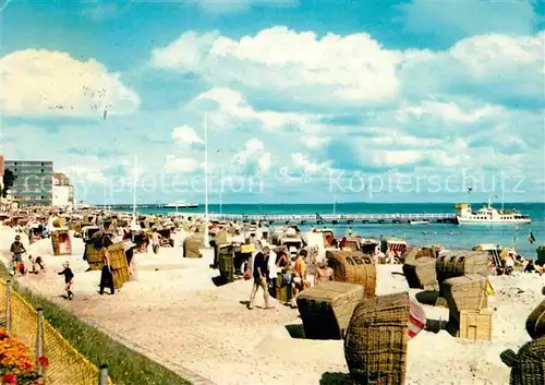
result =
M483 204L472 203L473 210ZM500 208L497 205L496 208ZM536 248L545 244L545 203L505 203L506 209L517 209L532 218L529 225L452 225L452 224L339 224L334 228L336 237L347 234L351 229L354 234L372 237L404 237L410 244L443 244L446 249L471 249L480 243L494 243L501 246L514 246L523 256L536 257ZM223 214L452 214L452 203L337 203L332 204L209 204L209 213ZM172 208L138 209L141 214L169 214ZM198 208L179 209L179 213L203 213ZM276 225L276 224L275 224ZM272 225L272 226L275 226ZM277 226L281 226L278 224ZM301 230L310 230L311 225L298 225ZM530 243L529 236L535 241Z

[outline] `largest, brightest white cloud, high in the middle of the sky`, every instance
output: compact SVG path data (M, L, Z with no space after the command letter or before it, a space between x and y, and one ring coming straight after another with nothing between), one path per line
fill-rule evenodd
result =
M150 64L198 72L214 84L281 93L299 103L376 103L397 96L400 57L367 34L323 38L272 27L233 40L187 32L154 50Z

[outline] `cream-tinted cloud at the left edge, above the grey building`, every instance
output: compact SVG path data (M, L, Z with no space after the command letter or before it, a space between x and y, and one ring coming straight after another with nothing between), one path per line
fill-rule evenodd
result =
M131 113L140 97L100 62L27 49L0 59L0 110L15 116L102 117Z

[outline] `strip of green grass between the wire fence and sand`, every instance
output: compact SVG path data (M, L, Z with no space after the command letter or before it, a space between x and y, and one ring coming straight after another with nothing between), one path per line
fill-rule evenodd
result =
M11 279L1 263L0 278ZM97 366L107 364L108 374L116 385L191 385L191 382L113 340L52 301L19 287L15 281L13 288L34 308L44 309L44 316L51 326L90 362Z

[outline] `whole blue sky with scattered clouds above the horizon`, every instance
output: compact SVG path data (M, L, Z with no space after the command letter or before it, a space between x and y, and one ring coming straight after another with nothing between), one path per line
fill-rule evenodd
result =
M543 2L0 4L1 151L78 200L545 201Z

